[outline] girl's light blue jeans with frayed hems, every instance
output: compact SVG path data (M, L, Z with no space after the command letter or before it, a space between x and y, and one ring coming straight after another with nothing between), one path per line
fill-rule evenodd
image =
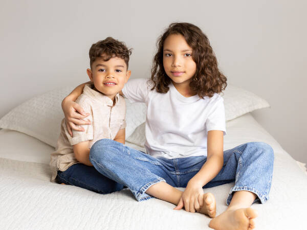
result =
M155 158L109 139L97 141L90 151L90 161L97 171L128 187L138 201L152 198L146 190L161 181L186 187L206 160L206 156ZM227 204L233 192L241 190L253 192L257 195L255 201L265 203L269 199L273 162L273 149L265 143L250 142L226 150L223 168L204 188L235 182Z

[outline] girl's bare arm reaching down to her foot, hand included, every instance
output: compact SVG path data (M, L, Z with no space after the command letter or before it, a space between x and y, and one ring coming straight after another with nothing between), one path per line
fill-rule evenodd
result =
M201 170L189 180L175 210L180 210L184 206L187 212L195 212L203 206L203 186L212 180L223 167L223 140L223 131L208 131L207 161Z

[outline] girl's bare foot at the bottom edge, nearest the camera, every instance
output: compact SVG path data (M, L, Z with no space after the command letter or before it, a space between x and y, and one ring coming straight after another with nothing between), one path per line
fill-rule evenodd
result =
M209 227L216 230L250 230L255 228L257 212L254 209L226 210L213 218Z

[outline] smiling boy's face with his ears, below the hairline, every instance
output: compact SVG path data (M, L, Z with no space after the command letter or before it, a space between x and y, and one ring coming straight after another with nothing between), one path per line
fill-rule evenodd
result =
M97 58L92 63L92 68L88 68L86 72L95 89L111 100L114 100L131 75L125 61L119 57L112 57L108 61Z

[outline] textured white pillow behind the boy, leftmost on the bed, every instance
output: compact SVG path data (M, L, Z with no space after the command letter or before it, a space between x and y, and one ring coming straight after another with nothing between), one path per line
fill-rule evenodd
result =
M61 102L73 88L55 89L20 104L0 120L0 128L26 133L55 147L60 134L60 123L64 118ZM128 137L137 126L145 122L146 105L130 103L128 100L126 105L126 137Z

